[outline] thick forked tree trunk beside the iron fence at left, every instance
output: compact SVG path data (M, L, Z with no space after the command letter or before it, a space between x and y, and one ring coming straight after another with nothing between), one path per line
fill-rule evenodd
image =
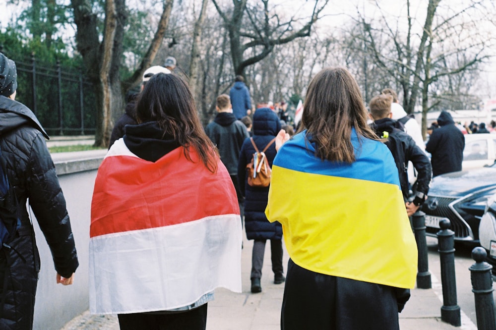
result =
M98 16L90 0L71 0L77 26L77 50L83 57L87 75L96 96L97 123L95 146L107 147L113 128L114 114L124 108L124 91L136 84L143 71L150 66L162 43L173 0L164 1L157 32L134 74L121 81L124 26L127 18L125 0L105 1L103 35L98 32ZM100 41L101 37L101 41Z

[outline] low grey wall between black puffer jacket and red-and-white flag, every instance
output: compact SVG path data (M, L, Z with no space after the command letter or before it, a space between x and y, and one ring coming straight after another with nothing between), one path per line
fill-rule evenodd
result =
M88 246L91 197L97 169L105 154L106 150L97 150L52 155L67 203L79 267L72 285L56 283L57 272L52 254L36 218L30 211L41 257L34 312L35 330L59 330L89 308Z

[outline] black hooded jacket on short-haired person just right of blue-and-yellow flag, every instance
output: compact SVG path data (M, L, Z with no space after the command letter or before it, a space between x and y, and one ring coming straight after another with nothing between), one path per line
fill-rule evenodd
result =
M401 191L405 201L410 197L407 172L408 162L412 162L418 172L416 191L427 196L432 178L431 162L424 151L417 146L413 138L396 128L396 125L396 120L382 118L375 120L372 128L379 137L382 137L384 132L388 133L388 139L385 144L391 151L396 167L398 168Z

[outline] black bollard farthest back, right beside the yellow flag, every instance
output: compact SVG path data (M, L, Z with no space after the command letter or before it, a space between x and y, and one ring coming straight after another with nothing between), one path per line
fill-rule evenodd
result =
M417 272L417 287L419 289L432 288L431 273L429 273L429 258L426 241L426 214L417 211L412 216L417 250L419 251L419 264Z

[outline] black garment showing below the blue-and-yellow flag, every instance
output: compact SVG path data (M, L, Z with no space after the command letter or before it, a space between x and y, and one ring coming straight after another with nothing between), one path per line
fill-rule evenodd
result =
M282 330L399 330L395 288L288 263Z

